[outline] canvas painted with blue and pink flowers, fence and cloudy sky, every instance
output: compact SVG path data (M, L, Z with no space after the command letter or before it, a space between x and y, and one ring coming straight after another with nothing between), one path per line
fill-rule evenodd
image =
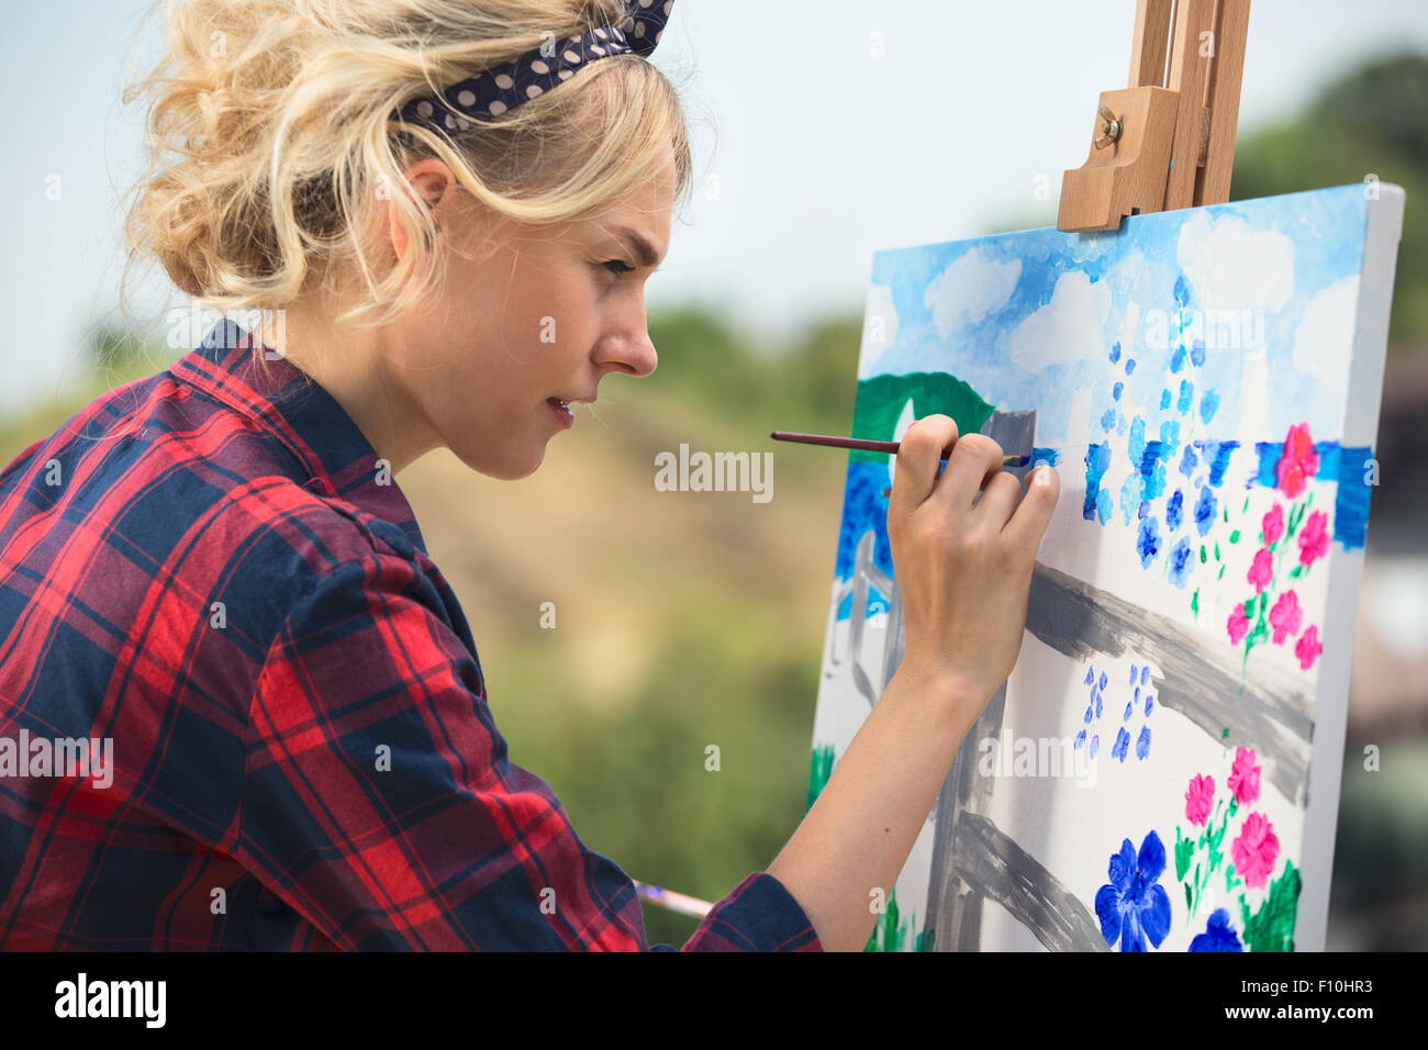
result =
M871 949L1322 949L1402 207L875 253L851 434L945 413L1061 497ZM902 654L894 461L848 457L810 806Z

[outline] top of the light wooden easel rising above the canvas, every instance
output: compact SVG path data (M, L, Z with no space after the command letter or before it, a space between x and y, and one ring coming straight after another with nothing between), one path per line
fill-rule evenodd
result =
M1061 181L1058 230L1230 200L1248 26L1250 0L1137 0L1131 86L1101 93L1091 156Z

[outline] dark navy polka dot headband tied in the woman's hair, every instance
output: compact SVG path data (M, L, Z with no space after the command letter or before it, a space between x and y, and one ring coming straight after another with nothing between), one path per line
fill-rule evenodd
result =
M674 0L627 0L625 17L618 26L547 40L516 61L451 84L441 94L413 99L398 110L397 119L437 130L464 131L473 123L491 120L527 99L544 94L598 59L627 53L648 57L664 34L671 7Z

